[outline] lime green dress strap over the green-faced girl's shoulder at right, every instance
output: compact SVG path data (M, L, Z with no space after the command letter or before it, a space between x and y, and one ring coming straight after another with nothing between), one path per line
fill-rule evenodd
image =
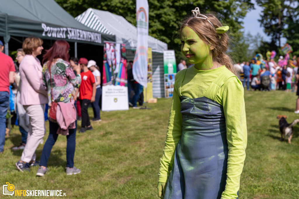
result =
M219 89L222 87L222 85L231 77L237 77L235 76L230 70L225 70L222 73L219 73L219 76L214 79L214 81L211 83L207 91L205 92L204 97L215 100L215 97L219 91Z

